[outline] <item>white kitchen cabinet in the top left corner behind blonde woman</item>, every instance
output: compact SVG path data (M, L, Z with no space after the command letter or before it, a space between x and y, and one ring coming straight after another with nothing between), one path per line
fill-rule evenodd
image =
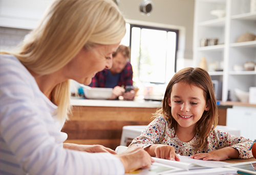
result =
M0 0L0 26L34 29L52 0Z

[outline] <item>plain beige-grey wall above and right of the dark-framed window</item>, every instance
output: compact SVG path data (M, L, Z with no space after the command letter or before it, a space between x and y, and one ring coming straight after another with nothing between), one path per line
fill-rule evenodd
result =
M139 5L143 0L120 0L119 9L126 19L185 27L184 58L193 58L194 0L152 0L150 16L142 15Z

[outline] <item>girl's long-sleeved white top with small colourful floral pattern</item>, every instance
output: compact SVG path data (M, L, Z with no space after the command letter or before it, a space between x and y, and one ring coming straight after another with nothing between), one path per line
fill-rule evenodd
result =
M210 152L227 146L236 148L239 151L239 159L248 159L252 157L249 147L252 141L243 137L237 137L229 133L214 129L207 141L207 148L198 150L193 147L198 134L189 142L182 142L176 135L174 128L169 128L164 117L157 117L136 137L131 146L142 146L143 148L153 144L166 144L175 147L176 154L181 156L191 156L201 152Z

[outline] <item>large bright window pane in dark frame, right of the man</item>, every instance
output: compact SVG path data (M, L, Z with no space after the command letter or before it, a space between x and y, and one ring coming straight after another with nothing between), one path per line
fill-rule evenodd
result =
M167 32L141 29L139 79L165 83Z

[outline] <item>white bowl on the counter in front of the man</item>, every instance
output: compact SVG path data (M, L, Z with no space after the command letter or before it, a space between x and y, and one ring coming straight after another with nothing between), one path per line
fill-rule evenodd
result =
M84 95L89 99L105 100L111 97L113 88L83 88Z

